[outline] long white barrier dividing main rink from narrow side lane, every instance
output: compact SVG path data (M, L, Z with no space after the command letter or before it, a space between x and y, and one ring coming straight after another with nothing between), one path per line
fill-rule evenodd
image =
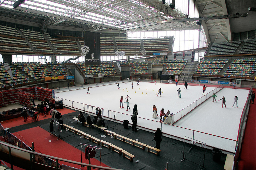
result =
M223 89L224 85L220 85L219 87L217 87L216 89L213 89L212 91L210 91L209 93L207 93L206 95L204 95L203 97L200 97L198 100L194 101L193 103L189 104L187 107L181 109L180 111L178 111L177 113L175 113L174 115L172 115L172 119L171 119L171 124L174 124L175 122L177 122L178 120L180 120L182 117L184 117L186 114L188 114L189 112L191 112L194 108L196 108L197 106L199 106L200 104L202 104L204 101L206 101L207 99L209 99L213 93L217 93L219 90ZM174 122L172 122L173 120L175 120Z

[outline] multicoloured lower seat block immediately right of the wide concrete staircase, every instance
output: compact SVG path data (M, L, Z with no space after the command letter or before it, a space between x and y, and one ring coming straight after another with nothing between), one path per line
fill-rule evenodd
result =
M205 59L199 62L195 74L217 75L229 59Z

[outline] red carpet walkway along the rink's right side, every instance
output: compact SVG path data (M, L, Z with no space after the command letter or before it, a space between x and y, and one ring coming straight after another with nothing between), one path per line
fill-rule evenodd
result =
M256 89L253 89L254 93ZM239 170L256 169L256 104L250 105L245 135L240 153Z

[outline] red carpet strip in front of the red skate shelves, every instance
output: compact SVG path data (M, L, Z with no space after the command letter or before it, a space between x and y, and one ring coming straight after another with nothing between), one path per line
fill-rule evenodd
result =
M71 109L66 109L66 108L63 108L63 109L57 109L62 115L64 114L68 114L68 113L72 113L72 112L75 112L74 110L71 110ZM44 119L48 119L51 117L51 115L46 115L47 117L44 117L44 115L41 115L39 114L39 121L40 120L44 120ZM24 125L24 124L27 124L27 123L33 123L34 121L32 121L32 117L28 117L28 121L24 122L24 118L23 117L17 117L17 118L14 118L14 119L10 119L10 120L5 120L3 122L1 122L2 126L4 128L11 128L11 127L15 127L15 126L20 126L20 125Z

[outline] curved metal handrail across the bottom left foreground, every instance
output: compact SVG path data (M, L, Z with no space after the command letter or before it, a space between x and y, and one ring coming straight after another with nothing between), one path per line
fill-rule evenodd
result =
M68 159L58 158L56 156L51 156L51 155L46 155L46 154L42 154L42 153L38 153L38 152L28 151L26 149L22 149L22 148L14 146L14 145L10 145L10 144L5 143L3 141L0 141L0 145L7 146L8 148L17 149L19 151L27 152L30 155L34 154L34 155L44 156L44 157L47 157L47 158L50 158L50 159L53 159L53 160L59 160L59 161L68 162L68 163L71 163L71 164L77 164L77 165L85 166L85 167L92 167L92 168L105 169L105 170L121 170L121 169L116 169L116 168L109 168L109 167L103 167L103 166L98 166L98 165L86 164L86 163L82 163L82 162L77 162L77 161L72 161L72 160L68 160ZM33 161L32 156L31 156L30 159L31 159L30 161ZM58 168L56 168L56 169L58 169Z

